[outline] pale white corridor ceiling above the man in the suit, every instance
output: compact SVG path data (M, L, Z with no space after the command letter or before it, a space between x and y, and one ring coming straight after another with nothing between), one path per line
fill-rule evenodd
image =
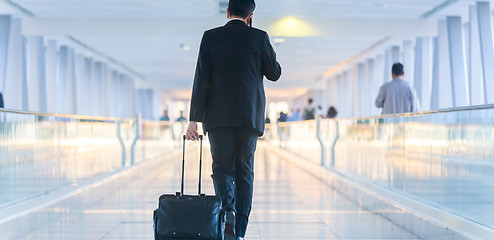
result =
M56 19L62 24L74 19L82 22L93 21L93 25L77 25L78 28L87 28L87 32L76 31L71 35L142 75L144 79L140 82L141 86L157 86L168 90L192 86L202 33L207 28L226 21L223 18L224 5L221 4L225 1L227 0L7 0L32 12L37 17L33 21ZM373 29L359 29L360 23L365 23L366 19L380 19L384 23L389 19L391 24L394 19L418 20L423 14L445 2L451 2L451 5L435 13L431 17L434 21L445 14L465 15L468 11L467 6L475 1L257 0L254 25L258 24L261 28L274 26L277 21L289 16L305 19L304 23L307 25L318 25L322 28L331 19L353 20L344 25L348 34L335 36L331 34L332 30L326 30L323 34L286 37L283 43L273 43L283 67L283 76L279 83L267 83L267 86L317 86L316 79L321 74L387 37L382 31L377 31L376 34L352 33L372 32ZM98 21L132 23L155 20L153 26L156 32L160 32L160 23L163 23L163 28L164 25L175 26L189 32L178 34L180 31L170 31L170 34L153 34L151 28L146 33L134 29L132 34L128 34L124 30L112 32L113 27L108 27L108 31L94 30L97 28L97 23L95 25L94 22ZM204 22L207 24L201 25ZM138 25L127 25L128 27L118 27L139 28L136 27ZM413 32L410 33L410 37L414 36ZM187 46L188 50L184 50L184 46Z

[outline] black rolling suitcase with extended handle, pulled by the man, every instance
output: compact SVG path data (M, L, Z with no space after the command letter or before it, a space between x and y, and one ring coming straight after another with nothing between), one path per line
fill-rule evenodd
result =
M154 210L154 238L160 240L223 239L223 213L221 199L201 194L202 139L199 158L198 195L184 195L185 136L183 142L181 192L164 194Z

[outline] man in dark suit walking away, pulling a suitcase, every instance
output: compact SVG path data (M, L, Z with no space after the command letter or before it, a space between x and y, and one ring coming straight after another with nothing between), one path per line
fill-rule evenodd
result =
M225 239L243 239L252 205L254 152L264 133L263 76L277 81L281 67L266 32L249 27L254 0L230 0L229 22L204 33L186 137L209 134L213 182L225 210Z

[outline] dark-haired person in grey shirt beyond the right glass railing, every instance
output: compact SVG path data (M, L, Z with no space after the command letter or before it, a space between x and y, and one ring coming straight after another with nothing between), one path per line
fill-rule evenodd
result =
M393 64L391 72L393 80L385 83L379 89L376 107L383 108L382 114L418 111L419 101L415 89L403 80L405 75L403 65L401 63Z

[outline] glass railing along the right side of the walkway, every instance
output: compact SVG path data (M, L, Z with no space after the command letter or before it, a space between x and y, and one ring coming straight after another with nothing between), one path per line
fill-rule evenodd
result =
M319 124L271 124L267 141L494 228L494 106Z

